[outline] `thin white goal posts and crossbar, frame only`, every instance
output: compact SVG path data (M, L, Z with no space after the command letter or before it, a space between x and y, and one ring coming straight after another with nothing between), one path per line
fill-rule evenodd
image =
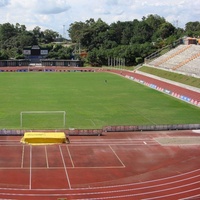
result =
M21 111L20 112L20 127L23 127L23 117L24 115L27 114L60 114L62 115L62 124L63 124L63 128L65 128L66 126L66 111Z

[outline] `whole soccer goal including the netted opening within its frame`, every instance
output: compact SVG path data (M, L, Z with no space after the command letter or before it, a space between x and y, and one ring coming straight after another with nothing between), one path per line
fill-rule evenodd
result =
M65 129L65 111L22 111L20 127L23 129Z

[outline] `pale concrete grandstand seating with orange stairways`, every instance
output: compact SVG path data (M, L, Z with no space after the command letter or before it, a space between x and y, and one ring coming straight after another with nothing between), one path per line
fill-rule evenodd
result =
M179 45L164 55L151 60L148 65L200 77L200 45Z

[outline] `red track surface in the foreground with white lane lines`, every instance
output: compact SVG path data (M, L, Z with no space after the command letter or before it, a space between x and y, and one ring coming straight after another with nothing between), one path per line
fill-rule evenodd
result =
M0 199L198 199L200 145L159 137L196 131L71 136L70 144L29 146L0 137Z

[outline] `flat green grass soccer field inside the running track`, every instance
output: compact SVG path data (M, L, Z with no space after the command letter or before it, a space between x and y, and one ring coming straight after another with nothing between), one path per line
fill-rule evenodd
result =
M200 122L199 108L109 73L0 73L0 92L0 129L20 129L21 111L66 111L66 128L77 129ZM23 128L62 126L31 117Z

